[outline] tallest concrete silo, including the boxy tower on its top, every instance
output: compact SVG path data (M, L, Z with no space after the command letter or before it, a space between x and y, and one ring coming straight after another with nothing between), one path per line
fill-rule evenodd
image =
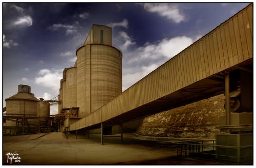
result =
M111 27L93 25L76 57L78 117L84 117L122 92L122 52L112 46Z

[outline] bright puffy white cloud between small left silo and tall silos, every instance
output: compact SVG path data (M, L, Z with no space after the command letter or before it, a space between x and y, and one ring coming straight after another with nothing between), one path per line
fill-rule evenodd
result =
M35 83L40 86L51 88L58 92L59 81L62 78L62 70L58 69L41 69L38 76L35 77Z

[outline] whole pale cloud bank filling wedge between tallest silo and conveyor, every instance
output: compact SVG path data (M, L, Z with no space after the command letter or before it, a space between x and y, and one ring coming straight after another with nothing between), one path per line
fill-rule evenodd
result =
M125 34L123 37L126 37ZM156 44L146 43L142 47L126 52L127 68L123 69L123 91L192 43L193 39L179 36L172 39L165 38Z

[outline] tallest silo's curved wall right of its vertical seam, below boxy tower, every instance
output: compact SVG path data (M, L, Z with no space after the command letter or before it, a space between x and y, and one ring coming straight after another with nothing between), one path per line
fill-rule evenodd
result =
M108 45L91 45L91 112L122 92L121 52Z

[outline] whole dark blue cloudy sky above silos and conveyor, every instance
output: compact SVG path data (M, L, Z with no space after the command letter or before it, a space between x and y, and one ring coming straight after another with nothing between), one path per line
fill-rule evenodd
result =
M3 3L3 106L20 84L37 98L56 97L62 71L74 66L92 24L112 27L124 91L247 5Z

